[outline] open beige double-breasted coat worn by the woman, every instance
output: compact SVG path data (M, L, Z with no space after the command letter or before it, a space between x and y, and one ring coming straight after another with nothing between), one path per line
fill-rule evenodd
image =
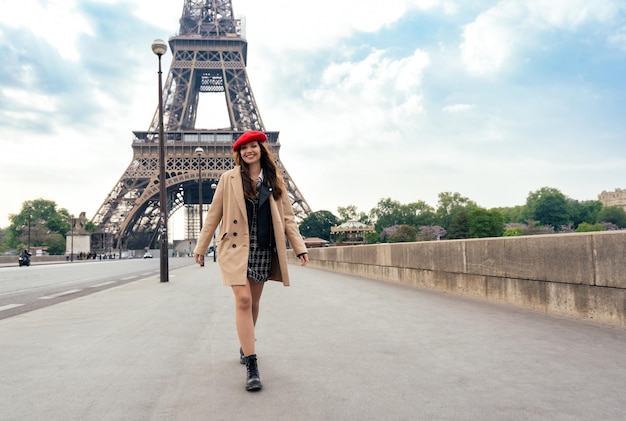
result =
M296 255L306 252L306 246L296 225L286 189L278 201L272 195L268 200L276 241L276 253L272 256L272 269L269 278L282 281L283 285L289 286L286 240L289 240L289 244ZM222 174L215 190L213 202L204 220L198 244L193 251L194 254L206 254L220 222L222 225L216 242L217 261L222 273L222 283L224 285L245 285L248 278L250 232L246 202L243 196L241 167L239 166Z

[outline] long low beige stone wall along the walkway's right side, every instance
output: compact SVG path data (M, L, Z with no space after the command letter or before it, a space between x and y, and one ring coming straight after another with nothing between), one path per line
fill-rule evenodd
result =
M315 268L626 327L626 232L327 247L309 258Z

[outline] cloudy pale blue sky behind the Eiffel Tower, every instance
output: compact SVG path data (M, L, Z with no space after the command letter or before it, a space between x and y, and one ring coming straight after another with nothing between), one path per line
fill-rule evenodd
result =
M97 212L131 162L132 131L150 125L150 45L175 35L183 3L0 0L0 227L37 198ZM263 122L315 211L626 188L623 0L233 7Z

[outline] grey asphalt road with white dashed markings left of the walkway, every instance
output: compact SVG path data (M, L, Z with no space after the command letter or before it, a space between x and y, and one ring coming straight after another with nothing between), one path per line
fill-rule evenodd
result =
M158 274L160 260L102 260L0 267L0 320ZM170 269L192 265L169 259Z

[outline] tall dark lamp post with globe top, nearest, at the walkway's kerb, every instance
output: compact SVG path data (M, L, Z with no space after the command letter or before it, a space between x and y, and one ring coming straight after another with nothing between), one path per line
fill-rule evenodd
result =
M161 56L167 52L167 44L162 39L152 42L152 52L159 57L159 201L161 220L159 222L161 241L161 282L169 282L167 256L167 189L165 186L165 130L163 128L163 84Z

